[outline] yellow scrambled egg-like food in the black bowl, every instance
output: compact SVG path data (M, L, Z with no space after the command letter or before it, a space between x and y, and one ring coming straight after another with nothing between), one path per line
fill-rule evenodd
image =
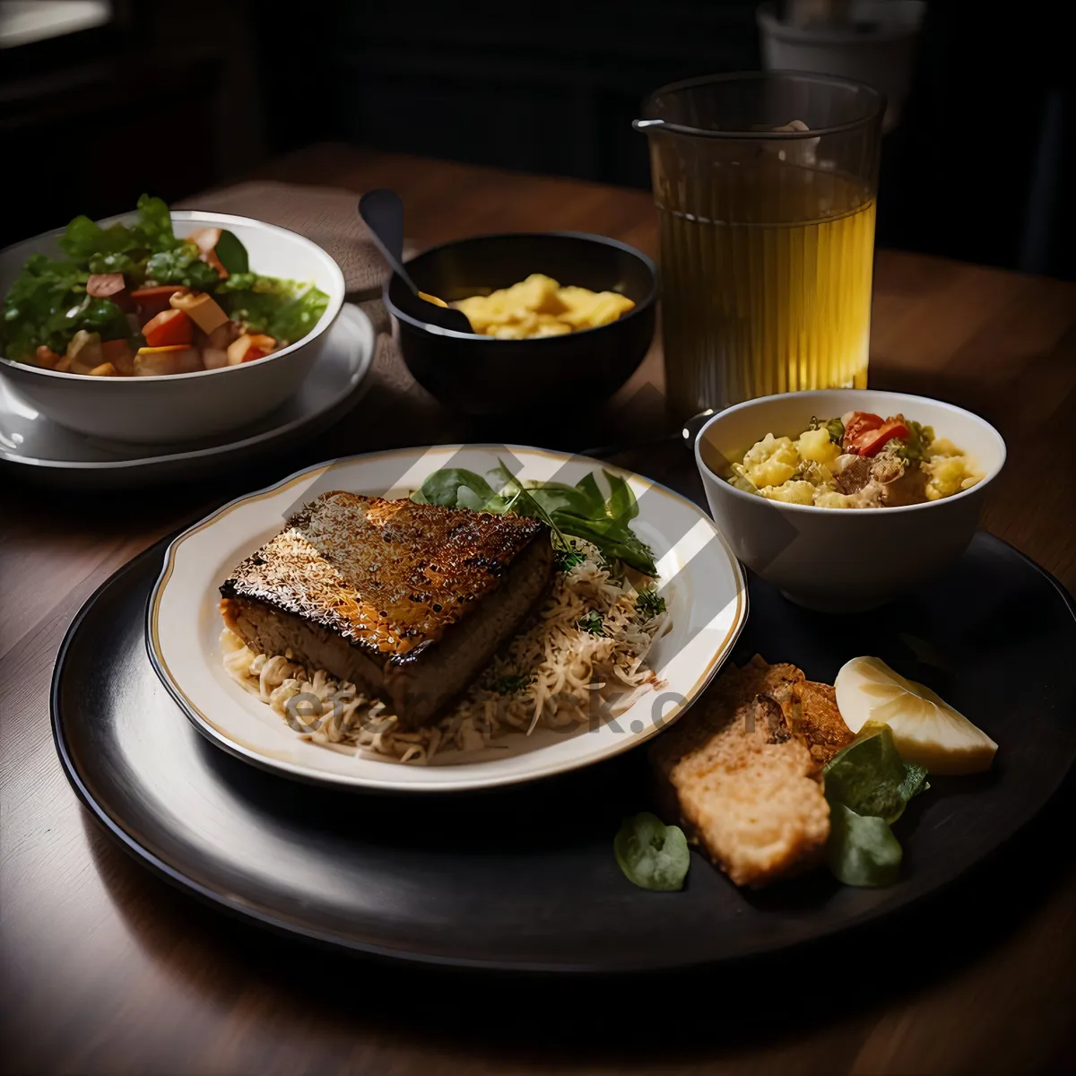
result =
M426 297L428 298L428 297ZM480 336L498 340L564 336L608 325L635 308L619 292L562 287L552 277L532 273L526 280L490 295L475 295L452 303L462 310Z

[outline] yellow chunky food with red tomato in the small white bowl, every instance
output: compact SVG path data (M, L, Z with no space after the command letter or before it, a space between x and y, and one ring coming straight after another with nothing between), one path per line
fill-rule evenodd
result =
M902 414L812 419L798 437L767 434L728 481L770 500L819 508L893 508L951 497L982 479L972 459Z

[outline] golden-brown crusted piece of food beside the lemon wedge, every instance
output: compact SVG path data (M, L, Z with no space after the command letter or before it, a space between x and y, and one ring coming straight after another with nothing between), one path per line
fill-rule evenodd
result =
M830 835L821 769L785 717L803 683L761 657L731 666L650 749L667 813L737 886L815 864Z

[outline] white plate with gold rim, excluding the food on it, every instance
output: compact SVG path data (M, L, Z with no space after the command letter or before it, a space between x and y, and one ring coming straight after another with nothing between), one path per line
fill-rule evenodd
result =
M441 467L484 473L505 458L524 480L575 483L600 464L514 445L440 445L351 456L299 471L240 497L180 535L168 548L150 598L150 661L180 708L220 748L300 780L381 792L453 792L515 784L620 754L675 721L709 683L747 621L742 569L696 505L639 475L608 468L639 501L635 533L654 552L671 628L648 661L664 681L611 720L570 731L506 735L480 751L445 751L428 764L399 763L329 749L295 732L249 694L222 661L221 583L277 534L302 505L328 490L405 497Z

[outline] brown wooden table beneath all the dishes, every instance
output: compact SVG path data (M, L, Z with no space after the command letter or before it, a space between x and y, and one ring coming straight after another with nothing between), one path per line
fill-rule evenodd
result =
M265 176L404 196L421 243L578 228L654 253L649 196L569 180L320 146ZM879 253L875 387L936 395L1002 430L1009 465L985 523L1076 589L1076 287ZM655 411L660 355L601 433ZM633 411L633 400L646 407ZM647 402L649 401L649 402ZM356 412L275 466L456 436ZM551 435L574 448L577 430ZM261 473L257 484L275 473ZM870 951L827 946L691 979L491 979L355 962L237 924L113 846L53 750L47 689L79 606L125 561L254 484L136 497L5 490L0 525L0 1067L9 1072L1013 1072L1072 1067L1076 872L1072 795L992 867L894 924ZM1009 625L1019 631L1019 625ZM101 640L107 647L108 639ZM1034 670L1014 675L1033 676ZM1068 815L1071 817L1071 815Z

